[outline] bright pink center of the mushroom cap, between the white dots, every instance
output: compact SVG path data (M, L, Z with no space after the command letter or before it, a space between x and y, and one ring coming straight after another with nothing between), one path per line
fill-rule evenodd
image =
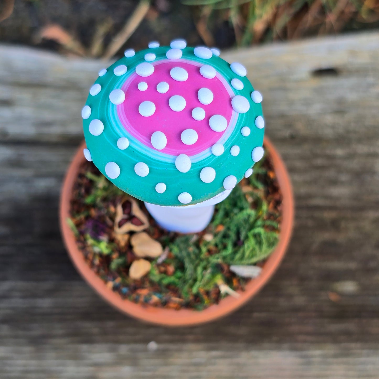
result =
M196 155L215 144L233 127L233 108L230 99L233 97L232 89L226 80L219 74L212 79L204 78L199 68L200 63L194 61L170 61L162 60L153 63L154 72L148 77L141 77L132 74L122 85L125 92L125 101L117 105L119 119L133 137L144 145L154 149L151 144L151 136L154 132L160 131L166 135L167 145L160 150L169 155ZM188 73L185 81L174 80L170 71L174 67L182 67ZM138 84L147 83L147 89L140 91ZM166 82L169 89L162 94L157 91L157 85ZM200 103L197 92L200 88L208 88L213 93L213 101L204 105ZM174 95L182 96L186 105L182 111L174 111L169 106L169 99ZM151 116L142 116L139 113L139 105L145 101L154 103L155 112ZM197 121L192 117L194 108L200 107L205 111L202 121ZM209 126L211 116L219 114L226 118L228 127L223 132L215 132ZM196 131L198 138L196 143L186 145L180 136L186 129Z

